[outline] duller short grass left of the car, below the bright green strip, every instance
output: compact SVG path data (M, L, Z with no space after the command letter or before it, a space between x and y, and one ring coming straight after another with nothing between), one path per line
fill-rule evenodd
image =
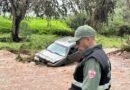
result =
M0 34L0 38L9 38L10 34ZM29 41L23 41L20 43L12 42L11 40L8 42L0 42L0 49L14 49L19 50L41 50L46 48L49 44L58 39L59 36L56 35L45 35L45 34L32 34L30 36Z

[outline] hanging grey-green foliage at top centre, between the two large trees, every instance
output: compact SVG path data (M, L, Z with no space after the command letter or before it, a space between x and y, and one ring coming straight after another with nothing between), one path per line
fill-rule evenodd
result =
M62 0L37 0L33 6L33 11L37 17L41 18L44 16L48 18L59 18L67 14Z

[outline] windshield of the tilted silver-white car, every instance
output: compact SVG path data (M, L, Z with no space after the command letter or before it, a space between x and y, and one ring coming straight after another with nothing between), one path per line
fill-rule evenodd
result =
M66 56L67 54L67 47L62 46L58 43L53 43L51 44L48 48L48 51L52 52L52 53L56 53L60 56Z

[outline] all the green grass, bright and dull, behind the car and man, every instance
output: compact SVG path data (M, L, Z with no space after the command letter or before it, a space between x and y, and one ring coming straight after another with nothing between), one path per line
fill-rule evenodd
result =
M26 18L20 25L20 35L27 40L14 43L11 41L10 28L11 19L0 16L0 49L11 48L19 50L23 48L41 50L61 36L73 33L73 30L61 20L50 20L48 22L46 19ZM120 48L122 46L121 38L116 36L106 37L98 34L96 41L99 44L101 43L105 48Z

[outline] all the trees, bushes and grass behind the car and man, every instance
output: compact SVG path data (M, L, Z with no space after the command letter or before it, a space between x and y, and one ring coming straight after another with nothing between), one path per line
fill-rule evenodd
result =
M40 50L57 38L72 36L74 30L84 24L96 28L98 43L105 47L125 48L123 41L127 41L125 37L130 34L129 2L130 0L2 0L0 48ZM35 17L29 15L31 12L34 12Z

